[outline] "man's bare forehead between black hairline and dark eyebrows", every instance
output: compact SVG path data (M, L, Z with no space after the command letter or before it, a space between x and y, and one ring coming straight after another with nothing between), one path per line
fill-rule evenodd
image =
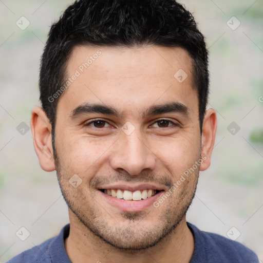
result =
M68 78L71 83L58 104L68 110L87 102L129 114L130 109L138 114L138 109L155 102L179 101L193 110L198 107L192 60L180 47L77 46L67 63Z

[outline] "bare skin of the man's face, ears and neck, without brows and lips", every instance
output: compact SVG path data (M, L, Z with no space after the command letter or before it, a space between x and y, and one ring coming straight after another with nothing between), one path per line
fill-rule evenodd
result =
M194 197L199 170L210 165L215 110L206 110L200 134L192 63L184 49L75 47L67 64L68 77L97 50L101 55L59 99L55 160L48 118L40 107L34 107L31 116L40 165L45 171L57 170L69 206L67 254L73 263L189 262L194 239L185 213ZM179 69L188 76L182 83L174 78ZM187 114L143 116L146 108L168 102L183 104ZM86 113L70 117L73 109L84 103L114 107L120 116ZM96 118L106 122L90 123ZM163 119L171 122L158 122ZM129 135L121 129L126 122L135 128ZM201 156L205 157L202 163L158 208L121 210L98 190L117 182L132 186L153 183L164 194ZM69 183L74 174L82 180L76 188Z

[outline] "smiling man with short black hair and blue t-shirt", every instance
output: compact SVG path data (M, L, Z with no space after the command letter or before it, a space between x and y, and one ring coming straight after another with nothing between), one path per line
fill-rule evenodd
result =
M70 224L8 262L258 262L185 214L210 165L203 35L173 0L86 0L50 30L34 148Z

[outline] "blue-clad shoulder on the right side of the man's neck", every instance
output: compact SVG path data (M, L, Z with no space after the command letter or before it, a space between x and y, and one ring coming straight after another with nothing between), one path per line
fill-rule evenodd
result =
M241 243L215 233L201 231L193 224L188 222L187 226L193 233L195 240L195 250L191 263L259 262L256 254Z

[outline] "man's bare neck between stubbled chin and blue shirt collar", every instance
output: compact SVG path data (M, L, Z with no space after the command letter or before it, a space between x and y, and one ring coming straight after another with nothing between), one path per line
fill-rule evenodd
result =
M89 262L189 262L194 252L194 238L186 225L185 217L177 227L152 248L141 251L125 251L112 247L91 233L69 212L70 233L65 249L72 263Z

